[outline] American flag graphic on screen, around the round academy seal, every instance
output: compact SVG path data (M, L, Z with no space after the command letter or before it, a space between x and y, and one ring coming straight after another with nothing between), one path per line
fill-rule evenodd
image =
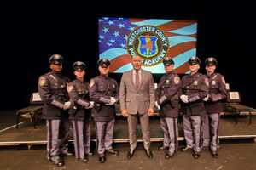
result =
M129 19L102 17L99 22L99 58L111 61L110 71L122 73L132 69L131 56L126 41L137 26L156 26L164 32L169 41L168 53L175 62L174 69L182 74L189 71L187 61L196 54L197 23L195 20ZM152 73L164 73L164 65L143 67Z

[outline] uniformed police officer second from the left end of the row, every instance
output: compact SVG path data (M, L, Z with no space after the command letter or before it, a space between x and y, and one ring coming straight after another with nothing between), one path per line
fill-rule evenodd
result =
M73 124L75 156L79 161L89 161L90 153L90 109L94 102L90 101L89 83L84 82L86 65L84 62L73 63L76 79L67 88L73 107L69 110L69 118Z

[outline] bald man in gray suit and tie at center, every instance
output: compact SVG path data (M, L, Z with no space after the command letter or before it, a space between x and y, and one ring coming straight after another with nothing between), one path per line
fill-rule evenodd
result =
M133 69L126 71L121 79L119 88L120 107L122 115L128 117L130 159L137 147L137 120L140 120L143 131L143 143L146 155L153 157L150 150L149 116L154 114L154 79L150 72L143 71L142 58L132 59Z

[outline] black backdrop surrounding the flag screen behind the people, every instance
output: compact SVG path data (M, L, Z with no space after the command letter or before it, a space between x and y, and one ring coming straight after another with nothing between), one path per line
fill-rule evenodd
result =
M96 3L1 6L1 108L29 105L30 94L37 91L38 77L49 71L51 54L64 56L64 74L71 79L71 65L76 60L89 65L87 81L95 77L98 16L198 20L197 55L202 61L208 56L216 57L218 71L230 82L230 88L241 93L242 103L255 107L256 26L253 26L252 4L246 1ZM121 75L110 76L119 81ZM155 82L159 78L160 75L155 75Z

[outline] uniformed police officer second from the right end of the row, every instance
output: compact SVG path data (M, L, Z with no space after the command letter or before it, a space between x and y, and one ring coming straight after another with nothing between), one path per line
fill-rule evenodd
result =
M202 116L206 109L202 99L207 97L209 82L207 77L198 72L200 59L191 57L189 59L190 74L182 79L182 101L183 130L187 145L183 151L193 149L193 156L197 159L200 156L202 145L201 124Z

